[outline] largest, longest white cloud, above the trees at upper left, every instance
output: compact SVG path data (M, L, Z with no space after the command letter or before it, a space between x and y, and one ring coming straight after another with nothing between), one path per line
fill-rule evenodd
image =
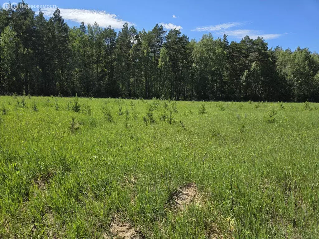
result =
M42 9L42 12L45 16L51 17L55 10L56 9L53 8L45 8ZM94 24L94 22L97 22L101 27L108 27L108 25L111 24L113 28L119 29L122 28L126 22L118 18L115 14L110 14L106 11L63 8L59 8L59 10L63 19L76 23L84 22L85 24ZM130 22L127 23L132 25Z

